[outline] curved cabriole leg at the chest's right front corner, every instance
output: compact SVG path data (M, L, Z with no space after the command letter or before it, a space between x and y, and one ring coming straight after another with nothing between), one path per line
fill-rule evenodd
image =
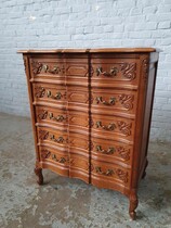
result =
M129 208L129 214L132 220L136 219L135 208L137 207L137 204L139 204L139 199L137 199L136 190L132 190L130 194L130 208Z

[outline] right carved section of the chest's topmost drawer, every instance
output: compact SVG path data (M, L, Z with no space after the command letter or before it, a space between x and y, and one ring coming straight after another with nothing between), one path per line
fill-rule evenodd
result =
M126 84L137 85L140 75L139 59L92 59L92 86L111 84L119 87Z

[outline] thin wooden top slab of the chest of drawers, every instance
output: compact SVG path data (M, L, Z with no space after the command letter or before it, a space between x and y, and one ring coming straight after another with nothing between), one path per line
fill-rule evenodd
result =
M26 49L18 50L17 53L128 53L128 52L156 52L154 48L103 48L103 49Z

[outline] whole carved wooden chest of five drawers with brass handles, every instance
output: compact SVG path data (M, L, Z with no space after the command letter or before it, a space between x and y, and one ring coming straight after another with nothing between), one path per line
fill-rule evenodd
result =
M120 191L135 219L158 53L152 48L23 50L42 168Z

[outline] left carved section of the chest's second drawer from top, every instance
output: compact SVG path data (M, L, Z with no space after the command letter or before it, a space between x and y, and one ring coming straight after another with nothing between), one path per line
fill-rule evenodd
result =
M66 88L62 85L52 84L32 84L34 101L43 103L53 103L65 107Z

